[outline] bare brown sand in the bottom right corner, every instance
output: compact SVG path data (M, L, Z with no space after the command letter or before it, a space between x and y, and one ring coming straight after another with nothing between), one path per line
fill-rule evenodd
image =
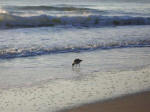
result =
M83 105L64 112L149 112L150 92Z

